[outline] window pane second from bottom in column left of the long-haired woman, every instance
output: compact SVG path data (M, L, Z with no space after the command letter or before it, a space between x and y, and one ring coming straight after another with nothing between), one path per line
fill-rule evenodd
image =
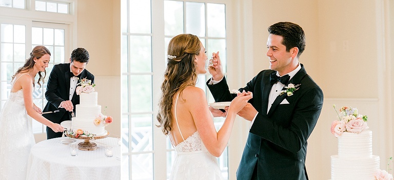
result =
M131 151L144 152L153 149L152 114L132 115Z

